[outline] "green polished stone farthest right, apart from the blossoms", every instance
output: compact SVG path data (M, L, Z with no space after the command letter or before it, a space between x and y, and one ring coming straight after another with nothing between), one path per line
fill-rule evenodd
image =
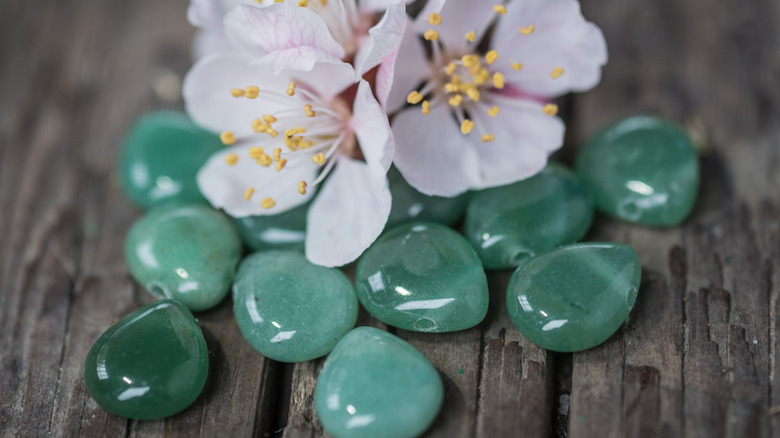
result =
M699 188L691 140L678 126L648 116L624 119L588 141L577 174L597 209L646 225L682 222Z

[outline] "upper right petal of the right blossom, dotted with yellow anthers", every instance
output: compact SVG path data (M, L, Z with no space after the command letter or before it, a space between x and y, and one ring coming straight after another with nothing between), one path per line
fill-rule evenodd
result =
M580 12L576 0L523 0L507 4L492 45L499 53L495 68L507 83L539 96L558 96L593 88L607 62L601 30ZM519 29L533 25L530 35ZM512 63L522 63L517 71ZM551 73L563 69L553 78Z

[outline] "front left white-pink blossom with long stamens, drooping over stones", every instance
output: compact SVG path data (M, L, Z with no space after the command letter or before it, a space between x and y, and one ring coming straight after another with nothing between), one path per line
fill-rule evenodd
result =
M350 68L324 63L273 74L254 60L240 52L209 55L185 78L190 116L233 145L200 170L201 192L243 217L291 209L322 185L309 208L306 255L324 266L351 262L390 212L387 116L366 81L352 85ZM354 100L340 96L345 89Z

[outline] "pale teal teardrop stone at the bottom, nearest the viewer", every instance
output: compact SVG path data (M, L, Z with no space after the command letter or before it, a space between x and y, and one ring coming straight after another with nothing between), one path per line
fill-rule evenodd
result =
M431 425L444 388L436 368L407 342L373 327L344 336L314 390L317 415L338 438L411 438Z

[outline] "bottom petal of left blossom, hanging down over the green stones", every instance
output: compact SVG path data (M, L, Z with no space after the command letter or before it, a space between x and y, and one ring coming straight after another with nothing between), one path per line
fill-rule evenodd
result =
M309 208L306 257L342 266L379 237L390 214L387 181L373 178L366 163L342 156Z

